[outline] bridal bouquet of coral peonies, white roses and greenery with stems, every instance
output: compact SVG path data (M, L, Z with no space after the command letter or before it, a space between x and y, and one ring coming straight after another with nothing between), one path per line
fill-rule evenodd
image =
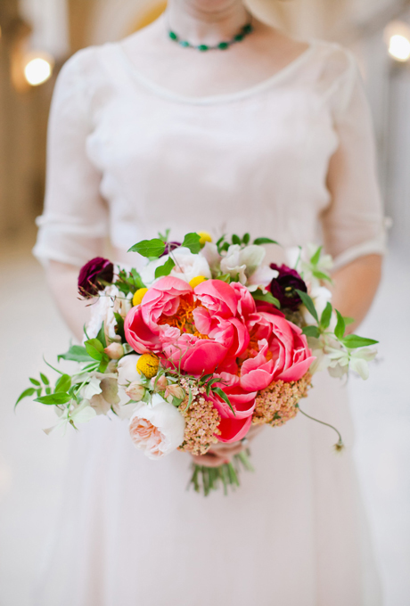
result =
M171 242L167 232L129 250L147 259L140 273L92 259L78 277L91 307L83 345L58 356L75 368L46 363L58 374L53 387L40 373L16 405L33 396L53 405L58 421L47 434L117 415L155 460L246 441L252 425L279 427L298 413L312 419L299 402L315 373L351 370L366 379L377 341L346 334L353 320L332 307L324 285L332 258L322 247L300 249L293 266L269 266L270 243L250 242L249 233L215 243L209 233L188 233ZM239 486L241 467L252 469L249 455L242 450L217 468L193 465L190 483L205 495Z

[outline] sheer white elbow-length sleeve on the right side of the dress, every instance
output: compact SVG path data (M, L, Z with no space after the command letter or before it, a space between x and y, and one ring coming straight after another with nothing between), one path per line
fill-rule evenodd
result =
M333 91L339 145L329 165L332 201L322 217L324 247L332 254L335 267L385 251L372 119L357 63L350 53L345 56L348 70Z

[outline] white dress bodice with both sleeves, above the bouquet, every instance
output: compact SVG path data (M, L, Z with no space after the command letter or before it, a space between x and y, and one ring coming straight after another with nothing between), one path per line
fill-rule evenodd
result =
M384 246L371 120L352 55L312 42L273 77L190 98L120 43L67 62L50 119L39 258L81 265L171 228L324 240L346 263ZM121 259L119 259L121 257ZM135 265L137 259L132 259Z

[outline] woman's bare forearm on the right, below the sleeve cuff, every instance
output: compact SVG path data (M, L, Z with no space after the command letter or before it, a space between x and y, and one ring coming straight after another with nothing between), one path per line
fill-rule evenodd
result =
M332 304L341 315L355 318L354 332L365 319L381 281L381 255L366 255L341 267L333 275Z

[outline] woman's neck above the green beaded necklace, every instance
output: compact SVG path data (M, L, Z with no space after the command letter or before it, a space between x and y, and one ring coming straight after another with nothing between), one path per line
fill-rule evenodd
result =
M241 0L170 0L168 27L193 44L230 39L250 20Z

